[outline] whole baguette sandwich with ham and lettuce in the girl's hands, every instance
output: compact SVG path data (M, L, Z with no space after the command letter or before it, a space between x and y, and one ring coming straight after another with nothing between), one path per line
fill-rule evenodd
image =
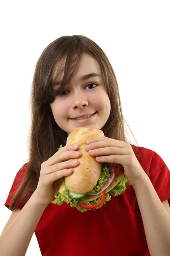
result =
M85 212L99 209L111 196L121 195L126 190L127 178L123 166L116 163L99 163L85 150L85 142L94 137L105 136L101 130L76 128L68 135L66 145L77 144L81 157L73 173L63 177L53 204L63 202Z

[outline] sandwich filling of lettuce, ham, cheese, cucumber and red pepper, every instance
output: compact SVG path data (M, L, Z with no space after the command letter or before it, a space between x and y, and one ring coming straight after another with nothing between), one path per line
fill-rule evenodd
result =
M59 194L55 195L55 200L52 203L61 205L63 202L66 202L81 212L85 212L88 209L98 209L107 201L111 200L112 195L121 195L125 192L126 183L127 178L122 170L119 170L119 173L116 174L113 164L104 163L99 180L91 191L85 194L72 193L65 186L65 180L63 178L59 188Z

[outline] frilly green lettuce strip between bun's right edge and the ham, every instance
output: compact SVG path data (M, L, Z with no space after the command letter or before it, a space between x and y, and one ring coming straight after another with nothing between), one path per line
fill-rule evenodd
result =
M93 193L93 192L99 191L103 187L104 182L106 180L108 180L109 177L111 177L111 175L109 173L109 163L104 163L103 167L102 167L101 175L99 177L99 180L97 181L96 186L88 193Z

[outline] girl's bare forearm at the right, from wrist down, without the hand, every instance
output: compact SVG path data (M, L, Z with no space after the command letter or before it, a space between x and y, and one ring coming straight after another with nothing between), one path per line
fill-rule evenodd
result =
M151 256L170 255L170 215L161 203L149 177L144 173L133 189L142 215Z

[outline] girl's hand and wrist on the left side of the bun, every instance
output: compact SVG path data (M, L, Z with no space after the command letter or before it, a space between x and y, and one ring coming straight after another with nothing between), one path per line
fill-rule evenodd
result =
M71 175L72 168L79 165L77 158L81 157L81 153L77 151L78 149L78 145L67 145L41 164L40 178L33 194L37 204L47 206L54 199L56 191L53 183L64 176Z

